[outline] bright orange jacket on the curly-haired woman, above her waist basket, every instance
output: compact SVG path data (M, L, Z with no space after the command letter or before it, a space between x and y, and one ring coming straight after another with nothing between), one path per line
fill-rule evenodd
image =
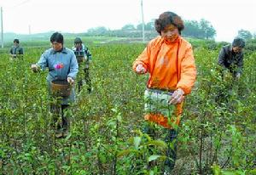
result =
M185 94L189 94L194 86L193 50L183 37L178 37L175 42L166 42L163 37L154 38L134 61L134 71L138 64L142 64L150 74L148 88L182 88Z

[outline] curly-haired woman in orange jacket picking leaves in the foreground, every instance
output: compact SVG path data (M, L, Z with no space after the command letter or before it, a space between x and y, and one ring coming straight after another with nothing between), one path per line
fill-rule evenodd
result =
M168 145L164 171L170 173L176 161L183 99L194 86L196 68L192 46L181 37L184 28L181 17L168 11L160 14L154 26L160 36L148 42L132 68L139 75L149 74L144 93L144 131L149 135L160 132L159 127L164 131Z

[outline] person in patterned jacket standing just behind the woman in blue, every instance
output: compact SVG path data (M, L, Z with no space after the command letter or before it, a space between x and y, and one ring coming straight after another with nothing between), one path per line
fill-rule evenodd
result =
M91 93L91 80L90 80L90 62L92 60L92 56L90 54L89 48L84 46L84 43L82 42L82 39L80 37L76 37L74 39L74 46L73 46L73 52L76 55L76 57L83 57L84 58L84 80L87 84L87 91L88 93ZM79 65L80 67L81 65ZM81 87L83 86L83 81L79 80L79 91Z

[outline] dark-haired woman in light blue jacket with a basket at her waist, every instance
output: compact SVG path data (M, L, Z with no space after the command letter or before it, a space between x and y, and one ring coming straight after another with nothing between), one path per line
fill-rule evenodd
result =
M37 64L31 66L32 71L38 72L40 70L46 70L48 68L49 73L47 76L47 82L49 87L49 93L51 94L51 82L55 80L67 81L71 85L74 85L74 81L79 72L79 65L73 51L63 46L63 36L59 32L55 32L50 37L52 48L47 49ZM56 126L56 138L64 138L67 136L69 120L65 115L65 111L69 104L75 100L74 86L71 89L71 93L67 97L62 97L60 104L50 104L50 110L54 114L54 125ZM59 122L59 116L61 116L61 122Z

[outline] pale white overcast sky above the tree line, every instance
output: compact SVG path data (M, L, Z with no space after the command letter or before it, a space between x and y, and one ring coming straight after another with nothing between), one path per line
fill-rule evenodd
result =
M96 26L120 29L142 22L141 0L0 0L4 32L22 34L44 31L84 32ZM165 11L183 20L211 22L217 41L236 37L244 29L256 32L255 0L143 0L144 21Z

